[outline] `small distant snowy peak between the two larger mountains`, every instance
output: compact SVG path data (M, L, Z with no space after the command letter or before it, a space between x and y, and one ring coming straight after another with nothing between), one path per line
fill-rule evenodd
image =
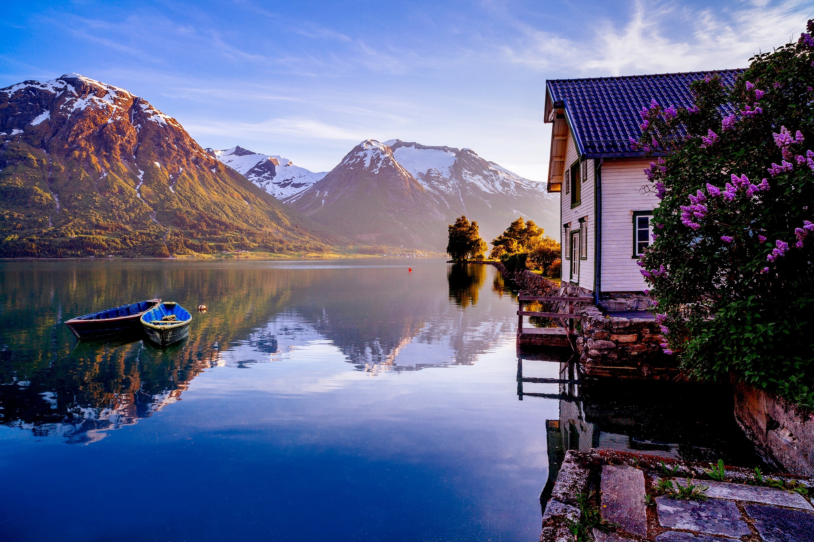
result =
M207 151L279 200L308 189L327 174L327 171L314 172L295 166L282 156L259 154L241 146Z

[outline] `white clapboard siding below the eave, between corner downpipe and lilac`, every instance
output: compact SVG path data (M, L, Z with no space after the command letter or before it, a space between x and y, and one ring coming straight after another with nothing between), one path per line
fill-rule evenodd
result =
M602 292L648 288L632 256L633 211L659 206L659 198L646 190L649 165L649 158L606 159L602 164Z

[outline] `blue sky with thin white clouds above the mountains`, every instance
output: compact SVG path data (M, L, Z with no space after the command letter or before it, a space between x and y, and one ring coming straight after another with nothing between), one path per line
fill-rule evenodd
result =
M360 141L470 148L545 180L545 80L746 67L814 0L0 2L0 87L77 72L204 147L329 171Z

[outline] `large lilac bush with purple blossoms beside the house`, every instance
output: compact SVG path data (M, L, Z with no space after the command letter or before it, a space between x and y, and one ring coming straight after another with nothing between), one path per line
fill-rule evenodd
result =
M689 109L651 103L637 145L663 154L646 170L662 202L640 265L665 352L701 379L736 375L814 407L814 21L807 30L753 57L729 92L710 74Z

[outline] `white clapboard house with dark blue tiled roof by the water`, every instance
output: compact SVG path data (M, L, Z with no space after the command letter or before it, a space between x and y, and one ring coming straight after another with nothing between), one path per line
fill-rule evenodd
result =
M659 198L644 171L655 158L631 146L641 137L639 111L652 100L693 106L694 80L717 74L732 89L742 72L545 82L545 122L553 128L548 190L560 193L563 286L590 293L607 310L650 306L637 259L652 241Z

